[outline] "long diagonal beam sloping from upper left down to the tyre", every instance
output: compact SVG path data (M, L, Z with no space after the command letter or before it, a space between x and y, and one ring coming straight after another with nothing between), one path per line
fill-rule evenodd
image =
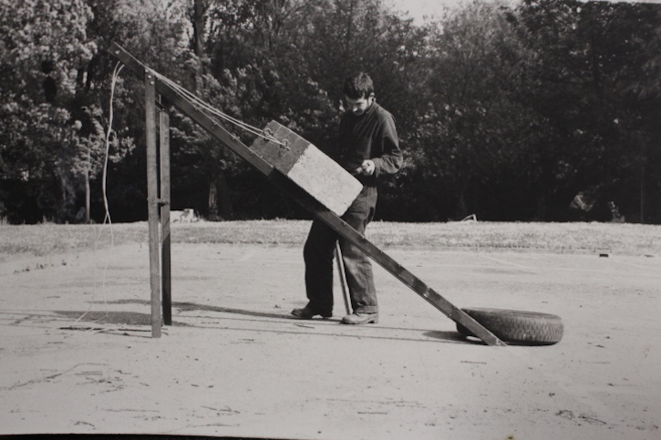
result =
M144 77L146 72L151 71L116 43L112 43L108 52L117 57L125 66L129 67L129 69L138 75L138 77ZM358 249L364 251L369 257L394 275L399 281L406 284L413 292L418 293L423 299L448 316L449 319L454 322L459 322L488 345L506 345L495 334L482 326L480 322L475 321L466 312L463 312L460 308L454 306L448 300L443 298L425 282L389 257L386 252L378 249L377 246L367 240L364 235L349 226L346 221L326 209L321 203L305 192L304 189L297 186L283 173L274 169L273 166L254 153L253 150L243 145L238 138L232 136L232 134L222 128L222 126L217 124L212 118L194 107L191 101L186 97L182 97L176 90L158 80L156 81L155 87L161 95L170 101L170 103L179 107L184 114L200 124L202 128L205 128L224 146L232 149L232 151L245 159L255 169L261 171L276 188L281 189L285 194L288 194L290 197L294 198L294 200L298 201L298 203L303 205L305 209L315 214L319 220L324 221L331 229L335 230L346 240L352 242L358 247Z

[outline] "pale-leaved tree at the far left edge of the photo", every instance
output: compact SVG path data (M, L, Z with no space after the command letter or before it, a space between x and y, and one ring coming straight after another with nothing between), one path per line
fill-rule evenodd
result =
M77 129L67 109L95 50L82 0L0 2L0 202L10 220L69 220ZM57 184L54 184L57 181Z

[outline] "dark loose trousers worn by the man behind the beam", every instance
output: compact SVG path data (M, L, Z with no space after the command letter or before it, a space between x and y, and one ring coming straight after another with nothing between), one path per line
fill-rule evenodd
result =
M376 207L377 188L364 187L346 210L342 220L361 234L365 234L367 224L374 219ZM372 262L369 257L317 219L312 222L303 250L305 292L310 300L308 307L319 313L333 310L333 255L337 240L345 264L351 307L354 312L378 312L377 290L374 286Z

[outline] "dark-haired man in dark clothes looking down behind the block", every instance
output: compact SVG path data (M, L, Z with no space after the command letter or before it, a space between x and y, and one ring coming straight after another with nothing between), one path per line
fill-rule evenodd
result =
M363 183L363 189L342 216L351 227L365 233L377 206L377 178L394 174L401 168L395 120L376 102L372 79L366 73L346 79L344 84L346 112L340 121L336 151L331 157ZM378 322L377 291L369 257L340 237L321 220L315 219L305 241L305 291L309 302L294 309L298 318L333 314L333 255L339 240L346 269L346 282L353 313L342 323Z

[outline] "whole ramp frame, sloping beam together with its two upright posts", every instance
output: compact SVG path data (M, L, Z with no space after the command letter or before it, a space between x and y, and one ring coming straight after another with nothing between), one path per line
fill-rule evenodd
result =
M205 128L214 138L227 148L232 149L239 157L250 163L254 169L259 170L268 181L284 191L294 200L298 201L305 209L312 212L316 218L324 221L331 229L346 240L352 242L361 251L376 261L386 271L394 275L399 281L407 285L413 292L418 293L432 306L443 312L454 322L458 322L471 333L475 334L488 345L506 345L496 335L471 318L466 312L451 304L439 293L434 292L425 282L421 281L413 273L402 267L397 261L390 258L384 251L377 248L375 244L367 240L365 236L358 233L334 212L325 208L315 200L305 189L297 186L282 172L275 169L271 164L256 154L252 149L232 136L230 132L222 128L212 118L208 117L199 108L195 107L187 97L159 81L149 67L144 66L135 57L131 56L123 47L112 43L108 52L119 59L126 67L129 67L136 75L145 81L145 117L147 129L147 172L148 172L148 204L149 204L149 228L150 228L150 287L151 287L151 326L152 337L160 337L160 286L163 287L163 319L166 325L170 325L170 159L169 159L169 123L167 113L160 113L160 185L158 179L159 160L156 140L156 112L158 107L157 92L160 98L178 107L181 112ZM160 186L160 195L159 195ZM159 240L159 210L161 219L161 233ZM159 259L159 249L161 259ZM161 260L161 261L159 261ZM162 262L162 276L160 264ZM162 282L162 284L161 284Z

